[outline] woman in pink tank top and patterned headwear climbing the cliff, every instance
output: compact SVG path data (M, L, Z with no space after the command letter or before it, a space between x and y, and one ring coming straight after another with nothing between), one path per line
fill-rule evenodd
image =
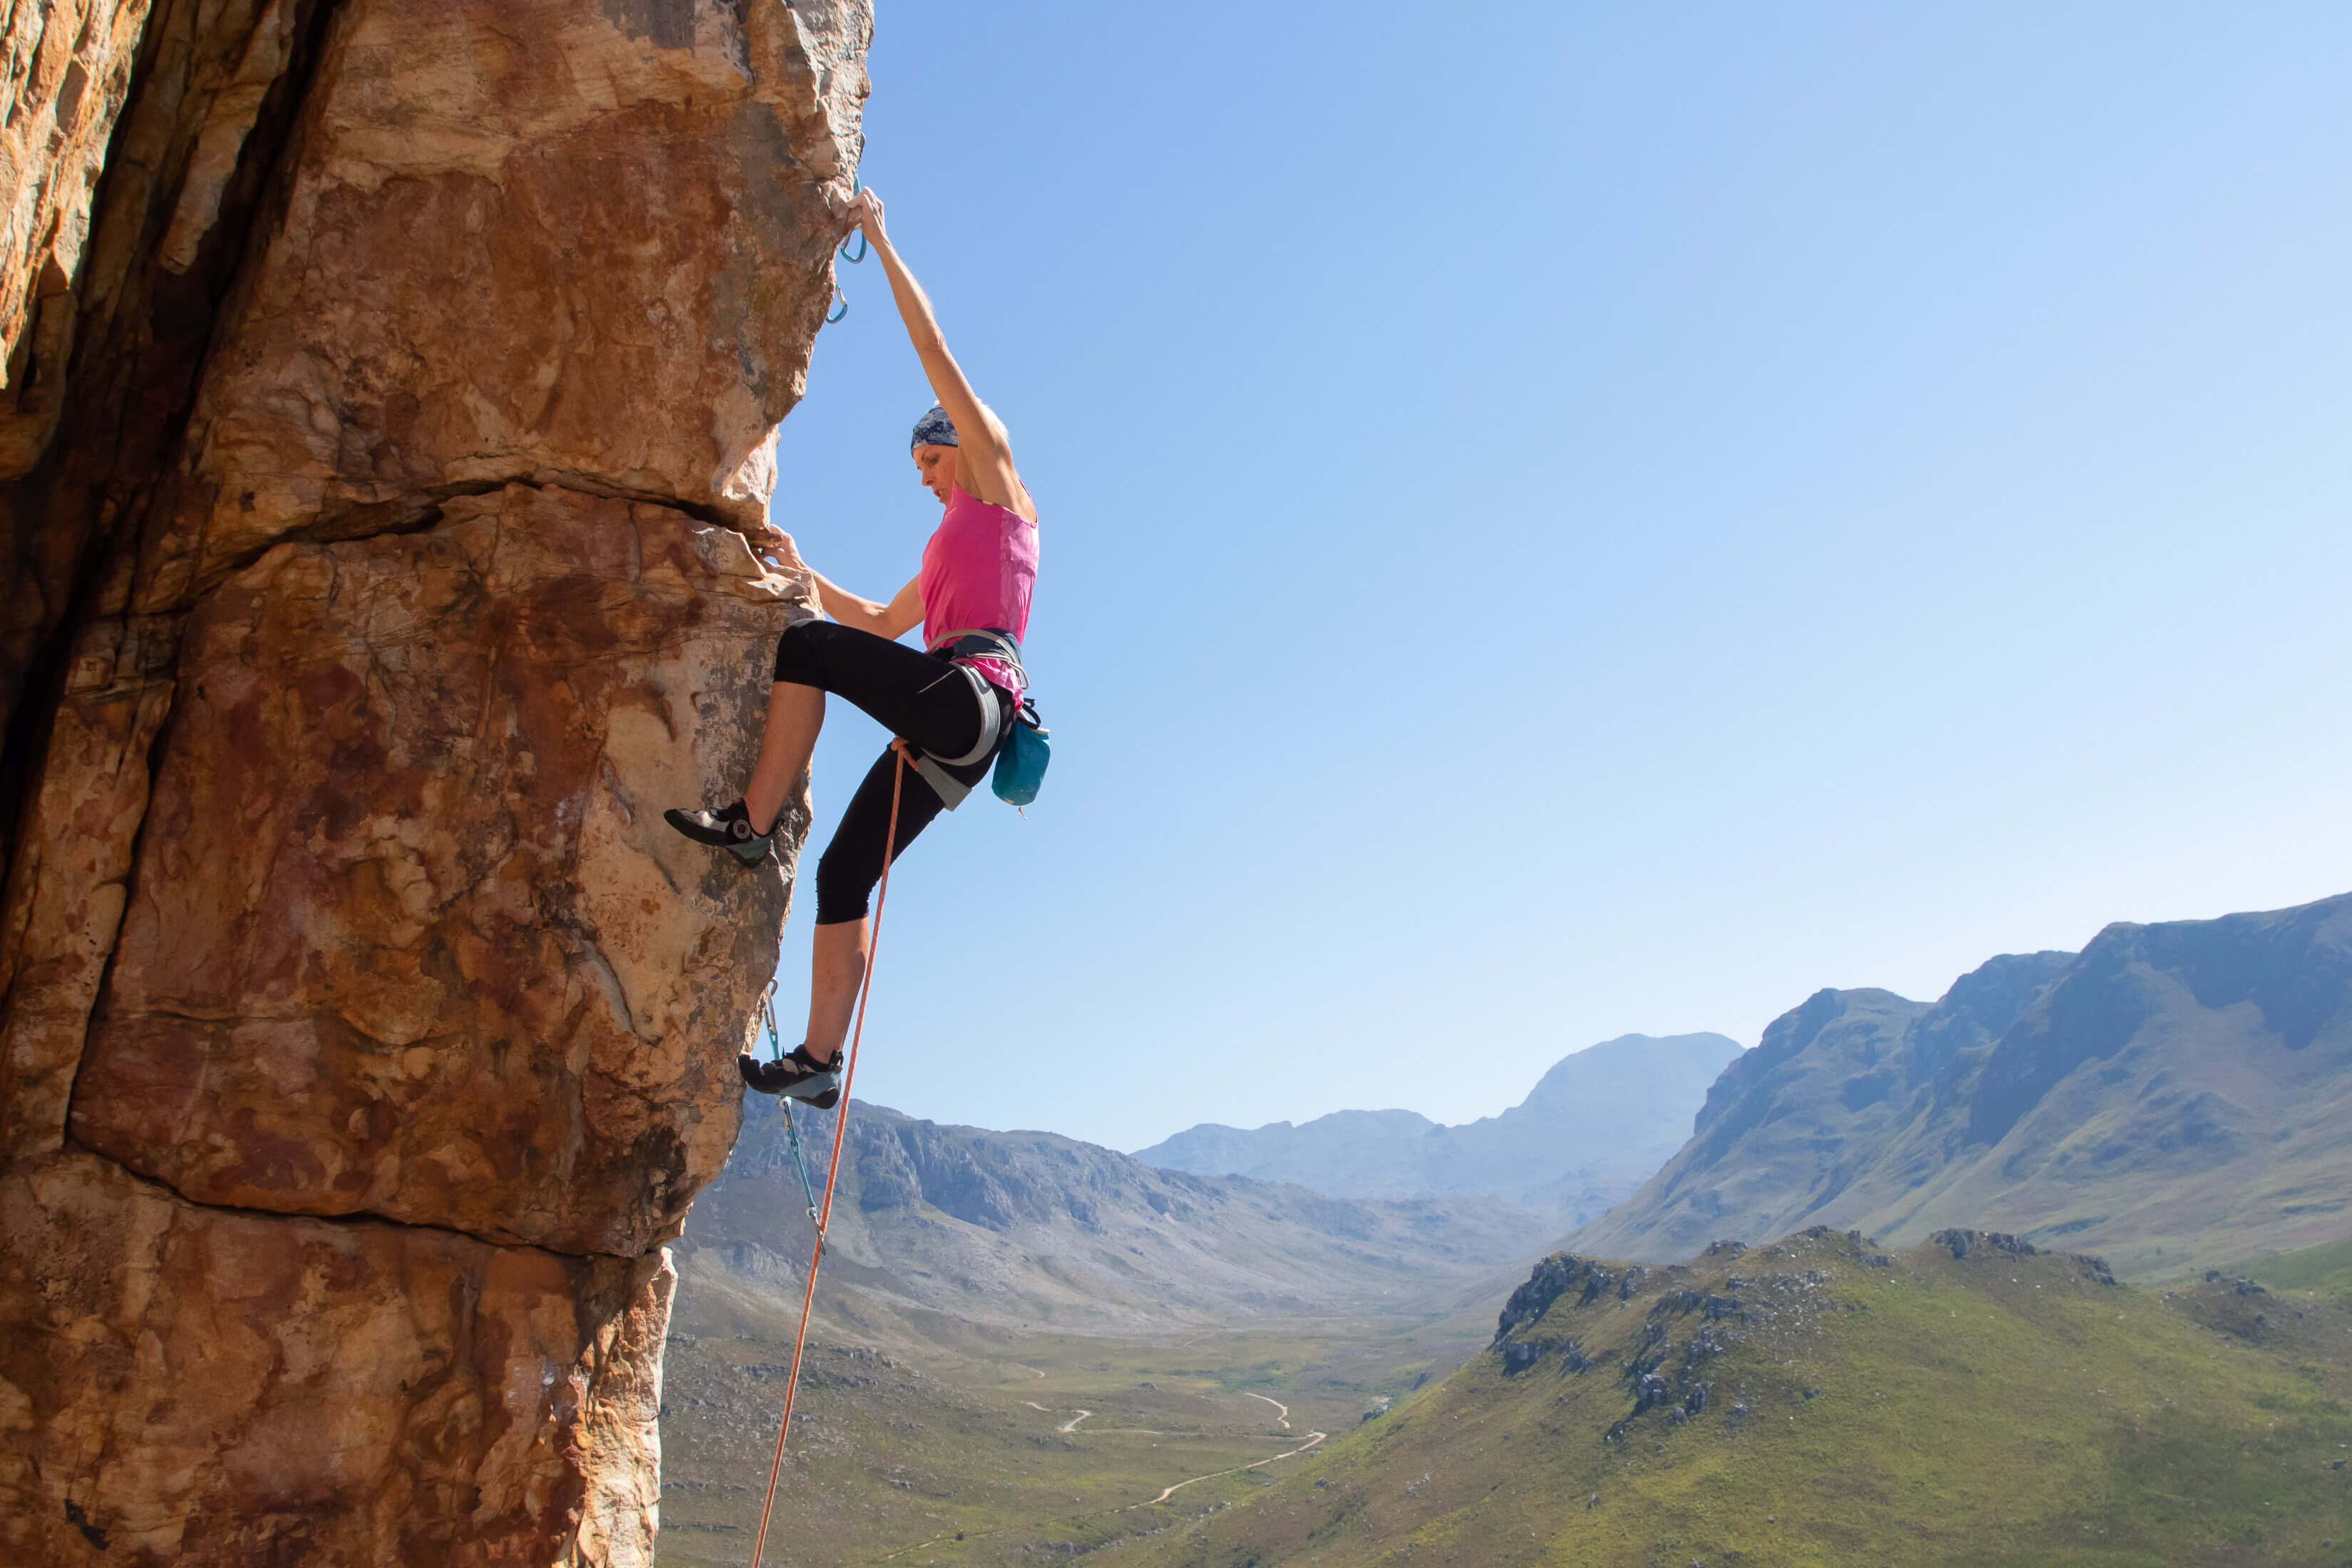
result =
M898 802L898 832L887 849L896 860L931 818L953 811L988 773L1028 684L1021 637L1028 632L1030 588L1037 581L1037 505L1014 470L1004 425L964 381L931 315L931 301L891 249L880 197L861 190L849 214L882 256L898 317L938 397L915 421L910 444L922 487L948 510L922 548L922 569L889 604L861 599L809 571L790 534L769 527L762 538L786 567L809 571L818 611L833 621L802 621L776 642L767 731L743 799L666 813L677 832L734 851L746 865L767 860L786 795L807 790L809 752L826 722L828 691L880 719L913 759ZM927 649L920 654L896 642L917 623ZM746 1053L736 1063L743 1081L760 1093L790 1095L818 1110L840 1103L842 1039L849 1034L849 1013L870 952L866 900L882 877L891 790L901 785L894 778L901 764L898 741L868 769L816 863L807 1039L781 1060L762 1063Z

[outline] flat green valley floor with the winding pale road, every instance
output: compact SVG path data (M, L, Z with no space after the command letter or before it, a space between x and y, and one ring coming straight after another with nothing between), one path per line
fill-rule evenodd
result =
M1110 1340L938 1321L936 1340L889 1352L816 1347L769 1561L990 1566L1197 1521L1442 1378L1489 1324L1301 1319ZM663 1568L750 1561L790 1356L790 1333L673 1338Z

